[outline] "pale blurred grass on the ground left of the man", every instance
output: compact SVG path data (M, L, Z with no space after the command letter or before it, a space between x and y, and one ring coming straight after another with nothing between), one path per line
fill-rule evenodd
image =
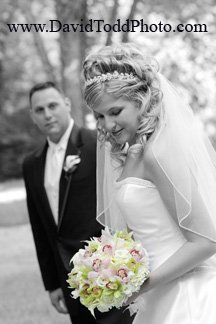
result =
M7 190L22 183L1 184ZM19 224L19 225L18 225ZM25 201L0 204L0 324L69 324L43 288Z

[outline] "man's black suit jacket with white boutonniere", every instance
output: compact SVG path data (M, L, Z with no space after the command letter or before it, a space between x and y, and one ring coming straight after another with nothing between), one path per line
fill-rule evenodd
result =
M44 188L47 147L46 143L41 150L25 159L23 175L44 286L47 290L54 290L66 284L69 261L83 247L83 241L100 235L101 226L96 221L96 133L73 126L65 156L79 154L81 162L72 174L64 213L58 226ZM59 186L59 214L67 185L63 170Z

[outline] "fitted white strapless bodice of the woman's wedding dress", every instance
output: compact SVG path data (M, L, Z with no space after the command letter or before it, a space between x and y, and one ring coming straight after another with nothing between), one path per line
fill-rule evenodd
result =
M152 271L174 254L186 239L152 182L129 177L115 182L115 187L116 203L134 238L147 250Z

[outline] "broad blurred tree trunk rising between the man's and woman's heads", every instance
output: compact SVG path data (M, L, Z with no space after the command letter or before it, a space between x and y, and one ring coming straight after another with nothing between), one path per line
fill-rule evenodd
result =
M55 0L57 19L64 23L85 23L87 0ZM80 17L80 18L78 18ZM81 20L82 19L82 20ZM82 93L80 84L81 61L85 56L86 36L80 32L59 32L62 87L72 103L72 117L83 124Z

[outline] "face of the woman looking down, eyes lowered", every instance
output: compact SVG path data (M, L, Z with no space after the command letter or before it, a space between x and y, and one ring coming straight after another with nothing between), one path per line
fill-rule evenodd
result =
M109 132L118 144L135 143L140 115L135 102L105 94L93 111L99 125Z

